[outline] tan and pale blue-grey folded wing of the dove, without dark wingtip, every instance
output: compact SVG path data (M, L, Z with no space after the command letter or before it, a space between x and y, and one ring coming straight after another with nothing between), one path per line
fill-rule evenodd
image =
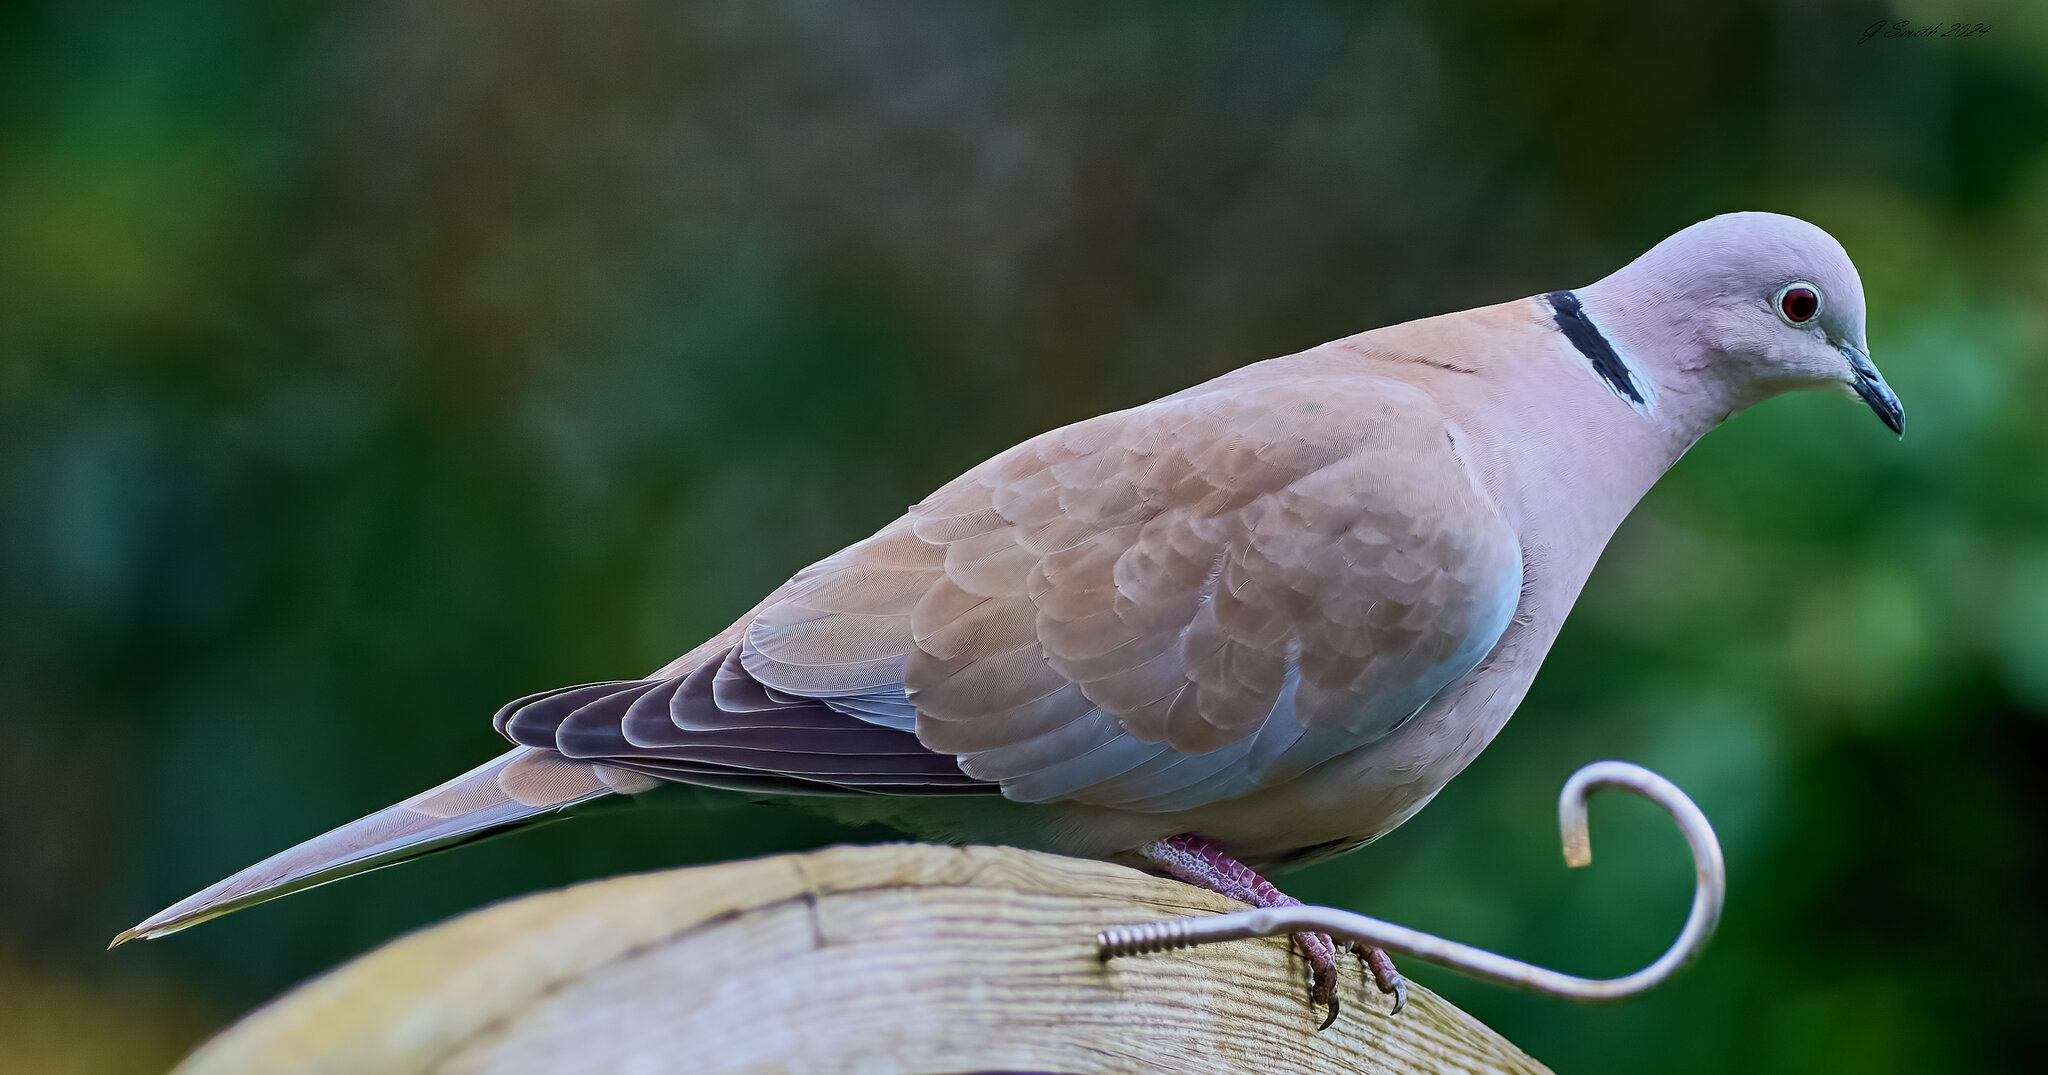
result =
M1282 362L969 471L741 668L1018 801L1192 809L1384 737L1499 639L1520 547L1427 395Z

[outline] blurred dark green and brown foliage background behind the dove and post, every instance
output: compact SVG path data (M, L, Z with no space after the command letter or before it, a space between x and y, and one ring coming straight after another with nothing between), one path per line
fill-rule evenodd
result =
M467 907L844 840L571 821L100 950L1014 440L1731 209L1849 248L1911 436L1819 393L1708 436L1493 749L1290 887L1628 971L1681 842L1604 801L1567 872L1552 821L1628 758L1720 827L1706 960L1599 1009L1415 979L1561 1071L2034 1069L2048 18L1100 8L0 6L0 1069L156 1071Z

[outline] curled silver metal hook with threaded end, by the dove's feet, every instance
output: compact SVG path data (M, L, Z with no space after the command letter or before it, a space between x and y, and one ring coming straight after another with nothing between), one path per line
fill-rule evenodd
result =
M1585 827L1585 801L1599 788L1620 788L1640 794L1663 807L1686 844L1692 846L1692 866L1698 885L1692 893L1692 913L1677 940L1657 962L1620 979L1581 979L1561 975L1544 966L1532 966L1485 948L1458 944L1434 934L1380 921L1376 917L1339 911L1335 907L1260 907L1251 911L1231 911L1208 917L1182 917L1171 921L1149 921L1143 926L1120 926L1096 938L1104 960L1114 956L1135 956L1141 952L1163 952L1169 948L1192 948L1219 940L1270 938L1280 934L1329 934L1335 940L1360 940L1389 952L1401 952L1419 960L1448 966L1460 975L1550 993L1575 1001L1612 1001L1632 997L1671 977L1692 956L1706 948L1706 938L1720 921L1720 903L1729 895L1729 876L1720 860L1720 842L1708 825L1700 807L1677 790L1677 784L1655 772L1628 762L1593 762L1565 780L1565 790L1556 799L1556 823L1565 835L1565 864L1585 866L1593 860L1591 837Z

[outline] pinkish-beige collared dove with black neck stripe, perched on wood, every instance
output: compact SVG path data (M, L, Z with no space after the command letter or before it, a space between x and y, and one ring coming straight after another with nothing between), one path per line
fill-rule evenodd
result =
M1806 387L1903 432L1841 246L1733 213L1579 291L1077 422L649 678L504 706L512 751L117 944L664 782L1292 903L1255 870L1419 811L1522 702L1657 477L1733 412ZM1335 952L1298 940L1335 1018Z

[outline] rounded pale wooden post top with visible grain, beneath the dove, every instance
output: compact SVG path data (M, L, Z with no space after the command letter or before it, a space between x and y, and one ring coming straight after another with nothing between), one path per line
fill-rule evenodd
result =
M1106 862L893 844L618 876L412 934L260 1007L215 1073L1542 1073L1343 966L1317 1034L1284 940L1096 958L1108 926L1225 911Z

